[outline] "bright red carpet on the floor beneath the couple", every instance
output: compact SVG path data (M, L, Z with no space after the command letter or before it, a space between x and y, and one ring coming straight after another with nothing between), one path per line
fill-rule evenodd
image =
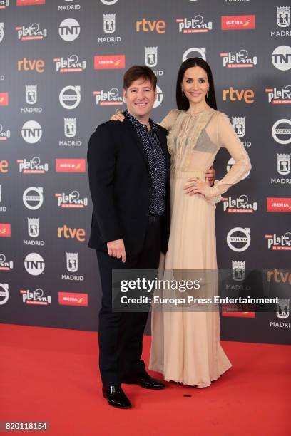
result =
M53 436L291 434L289 346L225 342L233 368L210 388L124 385L134 407L118 410L101 396L97 333L0 324L0 338L1 422L46 421Z

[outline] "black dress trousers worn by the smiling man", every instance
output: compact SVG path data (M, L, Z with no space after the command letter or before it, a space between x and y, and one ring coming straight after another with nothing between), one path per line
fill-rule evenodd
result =
M141 252L121 259L96 251L99 264L102 304L99 312L99 367L103 386L119 385L126 375L146 371L141 360L146 312L112 311L113 269L158 269L160 259L160 219L149 218Z

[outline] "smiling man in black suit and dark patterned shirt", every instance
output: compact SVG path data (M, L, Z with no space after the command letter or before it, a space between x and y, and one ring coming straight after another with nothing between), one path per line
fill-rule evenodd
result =
M131 403L121 383L162 389L141 360L148 313L112 311L113 269L157 269L170 229L168 131L150 117L157 78L133 66L123 78L127 110L123 123L98 125L88 146L93 217L89 246L96 249L102 285L99 365L103 396L119 408Z

